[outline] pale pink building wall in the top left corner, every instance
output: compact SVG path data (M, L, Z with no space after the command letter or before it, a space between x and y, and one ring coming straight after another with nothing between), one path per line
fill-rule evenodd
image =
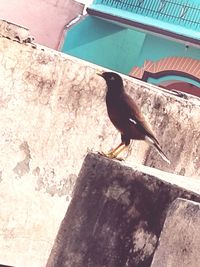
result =
M73 0L5 0L0 1L0 18L30 30L35 42L58 49L64 26L83 5Z

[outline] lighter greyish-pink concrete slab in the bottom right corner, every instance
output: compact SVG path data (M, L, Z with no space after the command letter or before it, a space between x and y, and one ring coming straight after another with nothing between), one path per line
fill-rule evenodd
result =
M166 221L151 267L200 266L200 204L176 199Z

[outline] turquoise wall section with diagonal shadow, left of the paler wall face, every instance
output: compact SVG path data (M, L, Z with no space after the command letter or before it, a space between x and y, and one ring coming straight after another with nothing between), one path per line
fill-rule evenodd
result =
M70 29L62 52L127 74L144 40L145 33L89 16Z

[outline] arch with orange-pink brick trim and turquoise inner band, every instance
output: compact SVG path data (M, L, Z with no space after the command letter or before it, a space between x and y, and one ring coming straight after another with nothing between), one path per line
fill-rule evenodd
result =
M200 97L200 60L188 57L167 57L146 60L142 67L133 67L130 76L156 84L167 90L177 90Z

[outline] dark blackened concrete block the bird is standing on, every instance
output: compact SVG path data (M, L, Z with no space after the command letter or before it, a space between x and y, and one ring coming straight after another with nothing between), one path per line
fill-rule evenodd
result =
M89 154L47 267L150 266L167 208L177 197L200 201L183 188Z

